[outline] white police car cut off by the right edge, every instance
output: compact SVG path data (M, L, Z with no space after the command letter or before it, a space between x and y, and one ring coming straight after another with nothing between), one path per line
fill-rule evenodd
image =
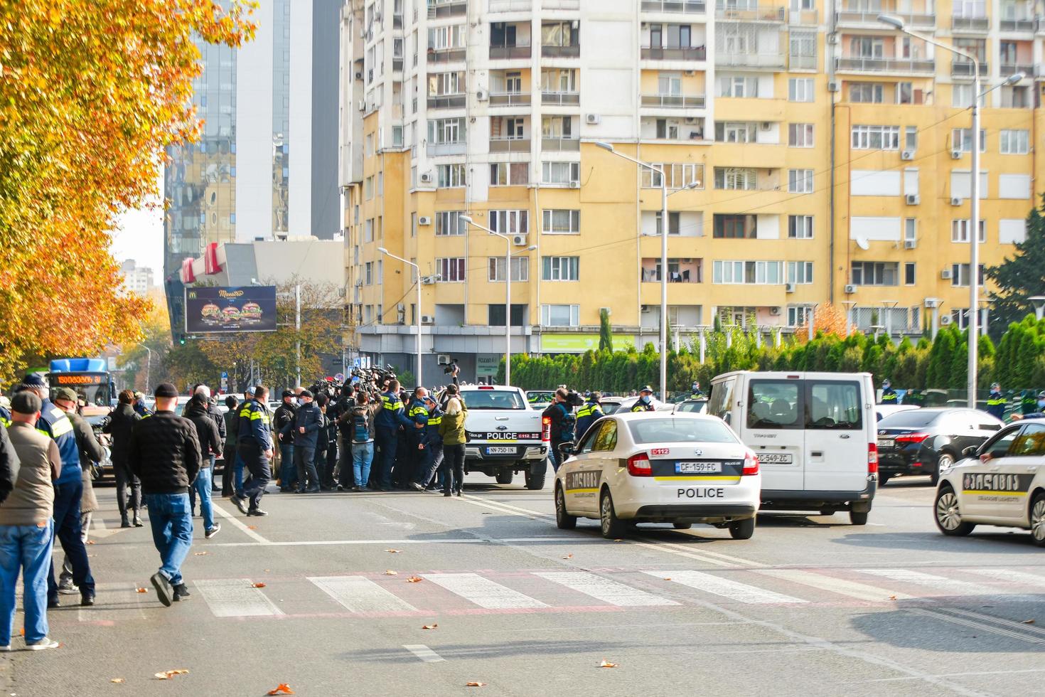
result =
M1045 419L1011 424L962 455L939 472L933 511L940 532L1024 528L1045 547Z

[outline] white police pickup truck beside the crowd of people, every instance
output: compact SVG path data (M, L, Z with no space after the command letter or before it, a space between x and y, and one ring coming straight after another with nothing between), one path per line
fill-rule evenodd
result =
M550 427L518 388L473 385L461 388L468 408L464 422L464 469L511 484L522 472L528 489L542 489L548 470Z

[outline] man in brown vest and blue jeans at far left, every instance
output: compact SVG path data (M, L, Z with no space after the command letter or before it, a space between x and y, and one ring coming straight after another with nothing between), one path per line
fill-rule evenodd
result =
M11 399L10 443L20 466L15 488L0 506L0 651L10 651L15 587L24 578L25 648L57 648L47 635L47 568L54 544L54 487L62 455L53 439L37 429L43 401L33 392ZM2 427L0 427L2 431ZM79 469L79 467L76 467Z

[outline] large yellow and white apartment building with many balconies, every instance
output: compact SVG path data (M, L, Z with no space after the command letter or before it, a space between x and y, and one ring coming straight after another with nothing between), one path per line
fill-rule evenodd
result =
M513 351L583 351L602 308L619 344L656 344L661 273L683 340L716 319L786 331L820 303L892 333L965 323L973 64L877 16L976 55L994 88L981 99L979 230L993 264L1042 192L1041 11L346 0L340 170L356 348L411 366L420 311L427 374L452 355L483 375L507 321ZM661 175L600 142L663 168L667 270ZM418 263L420 310L413 268L378 248Z

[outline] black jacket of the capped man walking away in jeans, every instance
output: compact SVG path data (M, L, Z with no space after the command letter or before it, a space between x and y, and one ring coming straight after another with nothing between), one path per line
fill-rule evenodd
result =
M173 412L157 412L131 432L127 465L145 493L188 493L202 465L195 425Z

